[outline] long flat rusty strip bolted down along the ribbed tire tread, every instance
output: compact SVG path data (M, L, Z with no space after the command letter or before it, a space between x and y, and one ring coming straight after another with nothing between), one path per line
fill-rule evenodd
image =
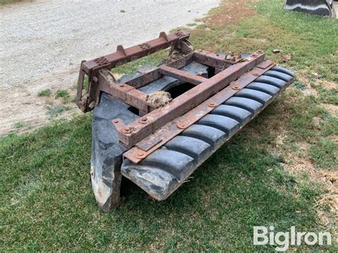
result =
M200 118L203 118L215 109L215 107L224 103L227 99L235 95L235 93L240 91L242 88L245 88L252 81L255 81L256 78L275 66L275 63L272 63L272 61L265 61L264 63L267 66L266 68L253 68L252 71L245 73L237 81L231 83L230 86L222 89L222 91L213 95L208 100L205 100L205 102L200 103L200 105L193 108L193 110L190 110L188 113L185 113L185 115L167 123L152 135L149 135L147 138L141 140L135 145L135 147L124 153L123 157L134 163L138 163L145 159L155 150L165 145L165 143L168 143L168 141L176 135L182 133L185 128L193 125L195 122L200 120Z

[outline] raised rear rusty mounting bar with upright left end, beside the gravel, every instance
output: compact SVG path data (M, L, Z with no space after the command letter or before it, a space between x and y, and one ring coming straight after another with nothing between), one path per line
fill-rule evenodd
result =
M172 46L172 48L179 46L183 48L185 43L180 43L180 41L188 39L189 36L190 34L187 31L177 31L171 34L161 32L158 38L138 46L123 48L123 46L120 45L115 53L101 56L91 61L82 61L76 95L78 108L83 112L87 112L98 104L101 92L100 88L102 87L98 86L98 73L101 69L106 68L110 70L111 68L148 56L150 53L155 53L170 46ZM83 94L84 76L88 77L88 92L86 94Z

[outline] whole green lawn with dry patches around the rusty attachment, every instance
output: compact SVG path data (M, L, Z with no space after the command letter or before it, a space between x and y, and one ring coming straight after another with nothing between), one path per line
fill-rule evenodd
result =
M297 73L292 87L168 200L131 185L110 213L91 191L91 113L1 138L0 250L273 251L253 245L257 225L337 237L338 21L283 11L282 0L252 2L225 1L191 41L215 52L263 49Z

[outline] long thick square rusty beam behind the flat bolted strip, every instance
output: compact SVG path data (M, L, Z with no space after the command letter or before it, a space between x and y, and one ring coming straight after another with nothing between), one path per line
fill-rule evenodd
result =
M212 78L209 78L207 81L200 83L200 85L195 86L186 93L175 98L165 107L155 109L148 113L146 118L150 120L148 120L147 123L131 123L127 126L131 129L130 133L126 133L123 130L118 131L120 142L127 148L131 148L135 143L138 143L140 140L147 137L149 133L154 133L155 130L166 123L195 108L204 100L210 98L211 95L222 90L231 82L240 78L242 74L250 71L264 60L265 53L262 52L257 52L243 58L240 63L236 63Z

